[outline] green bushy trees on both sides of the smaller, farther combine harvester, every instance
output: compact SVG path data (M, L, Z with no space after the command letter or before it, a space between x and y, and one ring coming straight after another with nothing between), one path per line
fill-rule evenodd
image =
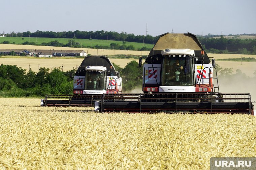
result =
M115 65L120 72L123 91L136 86L142 87L142 69L136 61L124 68ZM131 71L132 70L132 71ZM60 68L41 67L38 72L23 69L16 65L0 65L0 96L2 97L44 97L46 94L72 95L75 69L66 72Z

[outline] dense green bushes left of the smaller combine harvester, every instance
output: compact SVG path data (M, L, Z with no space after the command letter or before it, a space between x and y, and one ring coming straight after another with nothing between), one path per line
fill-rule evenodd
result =
M68 75L74 70L62 72L60 68L41 67L36 73L16 65L0 66L0 96L32 97L46 94L71 94L73 79Z

